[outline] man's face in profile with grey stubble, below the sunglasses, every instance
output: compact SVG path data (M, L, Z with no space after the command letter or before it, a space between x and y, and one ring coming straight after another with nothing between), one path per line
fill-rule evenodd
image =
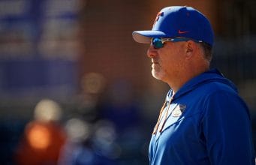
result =
M152 76L168 82L179 78L184 66L185 42L166 42L164 47L155 49L149 46L147 55L152 61Z

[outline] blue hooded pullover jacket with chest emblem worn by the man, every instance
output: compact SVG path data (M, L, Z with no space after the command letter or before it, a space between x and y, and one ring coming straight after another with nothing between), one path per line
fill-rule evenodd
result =
M248 107L233 83L211 70L171 99L172 93L160 118L162 130L152 134L151 165L255 164Z

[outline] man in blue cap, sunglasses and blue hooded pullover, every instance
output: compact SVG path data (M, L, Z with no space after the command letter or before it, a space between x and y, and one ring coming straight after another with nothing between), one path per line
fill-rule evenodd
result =
M192 7L165 7L151 31L133 37L150 43L152 76L170 86L152 133L150 164L254 164L248 108L233 83L209 69L209 20Z

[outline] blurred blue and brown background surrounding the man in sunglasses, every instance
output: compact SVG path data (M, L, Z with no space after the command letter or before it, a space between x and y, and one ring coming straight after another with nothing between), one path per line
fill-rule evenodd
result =
M0 163L148 164L168 86L131 32L170 5L209 18L212 68L238 87L255 138L256 1L0 0Z

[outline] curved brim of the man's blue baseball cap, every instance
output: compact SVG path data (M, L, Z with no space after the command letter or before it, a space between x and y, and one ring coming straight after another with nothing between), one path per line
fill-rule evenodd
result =
M150 43L152 37L166 37L162 31L134 31L132 37L138 43Z

